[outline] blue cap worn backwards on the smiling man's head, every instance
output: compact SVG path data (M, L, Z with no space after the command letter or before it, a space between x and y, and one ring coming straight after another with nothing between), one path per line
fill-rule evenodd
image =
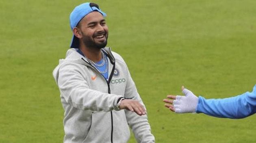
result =
M69 16L69 22L71 30L79 23L79 21L93 11L98 11L104 17L106 13L102 12L97 4L86 2L76 6ZM73 38L70 44L70 48L79 48L79 39L73 34Z

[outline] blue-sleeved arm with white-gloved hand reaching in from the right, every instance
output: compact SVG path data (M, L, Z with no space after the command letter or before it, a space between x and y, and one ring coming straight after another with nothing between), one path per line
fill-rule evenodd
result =
M183 89L185 96L168 95L165 107L176 113L204 113L219 118L245 118L256 113L256 85L253 91L224 99L197 98L191 91ZM170 100L174 99L174 100Z

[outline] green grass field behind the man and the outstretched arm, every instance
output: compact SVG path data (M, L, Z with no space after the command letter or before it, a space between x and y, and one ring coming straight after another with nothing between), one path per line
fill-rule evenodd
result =
M52 70L72 38L83 0L0 1L0 143L63 142ZM108 15L108 46L125 59L157 143L255 143L256 116L241 120L165 109L184 85L206 98L256 84L255 0L91 0ZM134 143L131 137L129 143Z

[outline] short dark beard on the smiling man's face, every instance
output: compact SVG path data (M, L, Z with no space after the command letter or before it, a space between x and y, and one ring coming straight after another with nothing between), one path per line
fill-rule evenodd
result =
M104 36L106 36L106 40L104 42L100 42L100 43L97 43L93 40L93 37L95 37L96 35L99 35L99 34L93 34L93 37L91 36L86 36L85 34L83 34L83 37L82 37L82 42L85 44L86 47L88 48L97 48L97 49L101 49L101 48L104 48L108 42L108 33L104 32Z

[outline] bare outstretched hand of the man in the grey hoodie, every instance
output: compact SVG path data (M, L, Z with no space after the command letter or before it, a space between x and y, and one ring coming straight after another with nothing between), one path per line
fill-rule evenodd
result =
M135 111L135 113L138 114L139 116L146 114L146 111L143 105L141 105L138 101L132 100L132 99L122 100L119 108Z

